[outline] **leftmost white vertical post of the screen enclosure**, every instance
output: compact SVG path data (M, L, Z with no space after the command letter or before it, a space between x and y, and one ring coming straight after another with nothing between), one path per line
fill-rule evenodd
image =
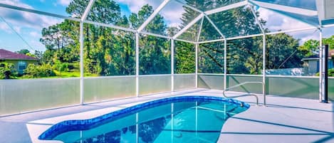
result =
M83 22L80 22L80 105L84 104L83 99Z

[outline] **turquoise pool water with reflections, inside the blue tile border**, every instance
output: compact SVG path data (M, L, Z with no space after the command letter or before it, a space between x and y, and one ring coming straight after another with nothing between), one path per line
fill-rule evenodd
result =
M177 102L54 139L74 143L216 142L226 119L242 111L242 107L222 102Z

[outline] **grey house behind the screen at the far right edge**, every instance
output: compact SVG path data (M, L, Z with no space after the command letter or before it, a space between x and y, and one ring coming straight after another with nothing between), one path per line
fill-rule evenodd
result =
M319 55L311 55L308 58L301 59L304 64L307 75L319 73ZM328 52L328 69L334 68L334 50Z

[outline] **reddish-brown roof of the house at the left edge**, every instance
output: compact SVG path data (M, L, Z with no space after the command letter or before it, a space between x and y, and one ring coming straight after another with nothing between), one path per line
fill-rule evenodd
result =
M0 48L0 60L38 60L38 58L34 58L21 53L6 51Z

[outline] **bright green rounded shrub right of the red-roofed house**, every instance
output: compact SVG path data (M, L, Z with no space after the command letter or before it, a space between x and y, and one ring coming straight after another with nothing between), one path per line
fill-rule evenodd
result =
M24 78L47 78L56 75L53 72L51 65L34 65L29 64L24 70Z

